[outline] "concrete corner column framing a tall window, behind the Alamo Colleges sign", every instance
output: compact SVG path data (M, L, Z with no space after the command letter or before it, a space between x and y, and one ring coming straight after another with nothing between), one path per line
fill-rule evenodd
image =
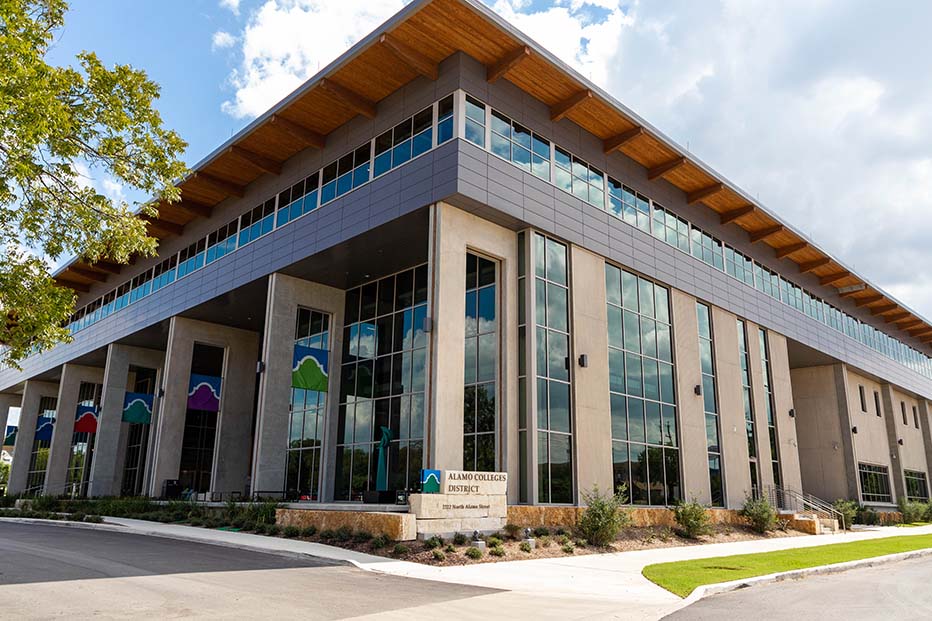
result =
M514 231L438 203L431 241L430 382L426 467L463 467L463 359L465 356L466 252L499 261L498 463L518 471L517 235ZM510 502L518 480L511 477Z

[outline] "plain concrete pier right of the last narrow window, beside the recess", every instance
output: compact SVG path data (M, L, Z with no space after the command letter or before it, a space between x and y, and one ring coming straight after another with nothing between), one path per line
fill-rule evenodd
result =
M802 491L799 473L799 441L793 410L793 383L790 380L790 358L786 337L767 331L770 342L770 374L773 386L774 419L777 423L777 442L780 451L780 469L783 471L784 489ZM794 411L795 414L795 411Z

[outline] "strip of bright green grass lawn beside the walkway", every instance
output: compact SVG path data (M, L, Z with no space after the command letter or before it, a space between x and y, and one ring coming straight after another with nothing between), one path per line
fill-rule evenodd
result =
M666 590L686 597L698 586L731 582L782 571L833 565L874 556L932 548L932 535L884 537L812 548L759 554L738 554L693 561L658 563L644 568L644 577Z

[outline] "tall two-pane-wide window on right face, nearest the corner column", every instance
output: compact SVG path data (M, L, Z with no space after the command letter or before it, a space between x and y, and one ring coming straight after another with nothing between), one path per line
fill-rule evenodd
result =
M568 248L534 234L537 500L573 502Z

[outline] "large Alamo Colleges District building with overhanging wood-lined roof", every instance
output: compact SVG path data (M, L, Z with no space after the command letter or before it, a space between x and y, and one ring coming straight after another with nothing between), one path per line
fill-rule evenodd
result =
M73 342L0 372L11 492L928 497L932 324L474 0L194 170L159 256L62 268Z

